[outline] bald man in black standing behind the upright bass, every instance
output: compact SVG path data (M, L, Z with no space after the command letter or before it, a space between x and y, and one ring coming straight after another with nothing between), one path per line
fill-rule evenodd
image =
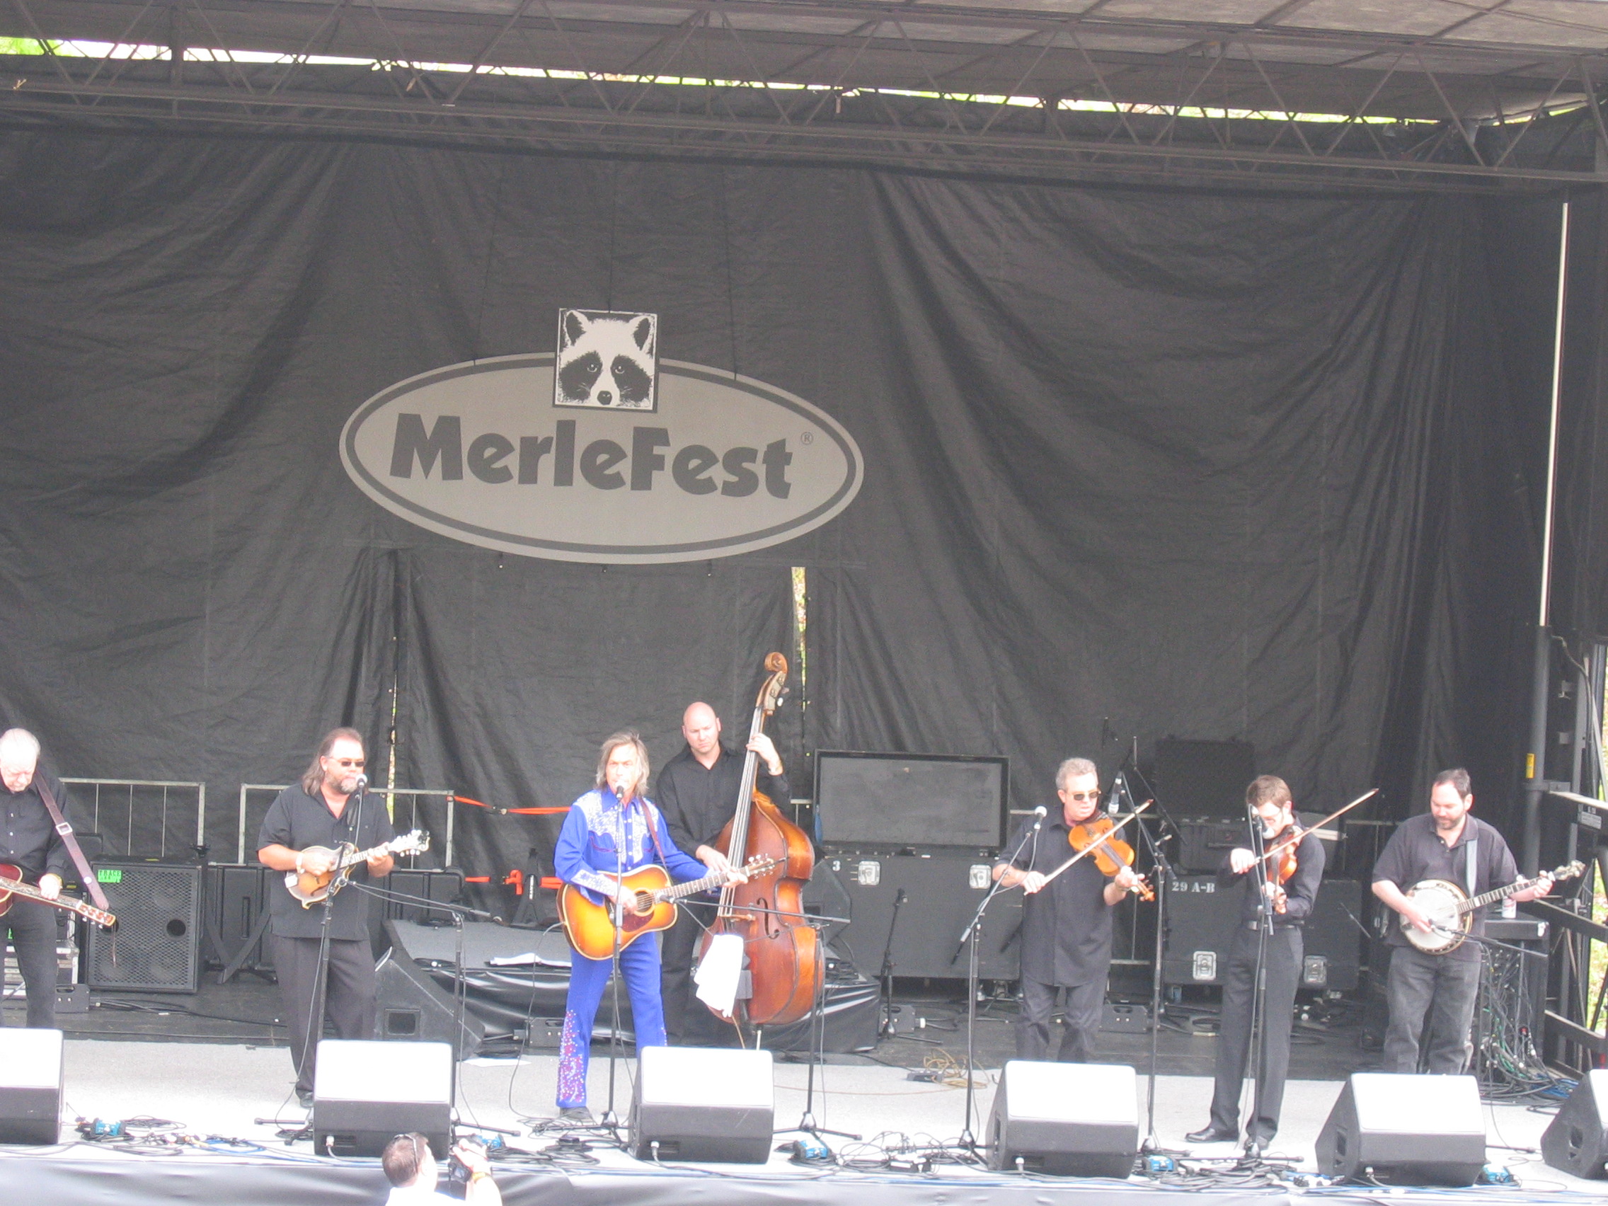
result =
M743 754L720 741L720 717L706 703L695 703L682 714L682 736L687 748L664 764L654 801L664 810L671 838L682 849L717 870L727 870L724 854L716 849L720 830L736 814L743 786ZM759 756L754 786L773 804L785 806L791 790L781 773L781 756L765 733L754 733L748 749ZM709 1040L716 1021L693 995L693 952L703 934L703 923L691 909L683 909L675 926L664 934L664 1031L671 1044L688 1039Z

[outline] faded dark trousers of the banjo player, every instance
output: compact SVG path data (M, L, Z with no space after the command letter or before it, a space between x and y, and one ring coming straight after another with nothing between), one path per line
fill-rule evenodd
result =
M1418 947L1391 947L1391 973L1384 995L1391 1024L1384 1031L1386 1073L1418 1071L1418 1040L1425 1040L1426 1073L1457 1076L1468 1068L1479 994L1479 960L1426 955ZM1428 1028L1425 1021L1428 1019Z

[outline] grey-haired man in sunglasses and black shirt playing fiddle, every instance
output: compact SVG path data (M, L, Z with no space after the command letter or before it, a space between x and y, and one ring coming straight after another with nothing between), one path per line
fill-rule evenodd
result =
M1071 854L1073 830L1100 807L1100 772L1087 757L1069 757L1055 772L1061 809L1040 833L1024 818L1011 838L1015 862L994 867L1005 888L1021 888L1028 899L1021 920L1021 1016L1016 1019L1016 1058L1050 1055L1050 1019L1055 999L1066 992L1066 1034L1060 1053L1064 1063L1089 1063L1105 1011L1106 971L1111 966L1111 909L1138 883L1132 867L1106 878L1090 854L1063 875L1050 872ZM1026 846L1023 839L1028 838Z

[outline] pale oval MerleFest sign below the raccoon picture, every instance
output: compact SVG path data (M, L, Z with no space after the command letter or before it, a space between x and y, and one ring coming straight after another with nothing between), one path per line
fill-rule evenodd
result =
M820 527L860 490L854 437L762 381L659 360L653 413L552 400L552 354L436 368L360 405L341 463L420 527L608 564L765 548Z

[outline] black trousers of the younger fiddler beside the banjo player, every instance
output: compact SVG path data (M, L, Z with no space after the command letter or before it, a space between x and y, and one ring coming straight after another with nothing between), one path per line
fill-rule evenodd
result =
M1259 936L1243 923L1229 946L1229 971L1222 982L1222 1024L1217 1028L1217 1084L1211 1095L1214 1130L1238 1134L1240 1087L1251 1058L1251 1010L1256 1003L1256 949ZM1290 1076L1290 1026L1294 1021L1296 986L1301 982L1304 946L1298 926L1274 926L1262 960L1262 1064L1257 1069L1261 1110L1253 1106L1245 1132L1269 1142L1278 1134L1278 1111Z

